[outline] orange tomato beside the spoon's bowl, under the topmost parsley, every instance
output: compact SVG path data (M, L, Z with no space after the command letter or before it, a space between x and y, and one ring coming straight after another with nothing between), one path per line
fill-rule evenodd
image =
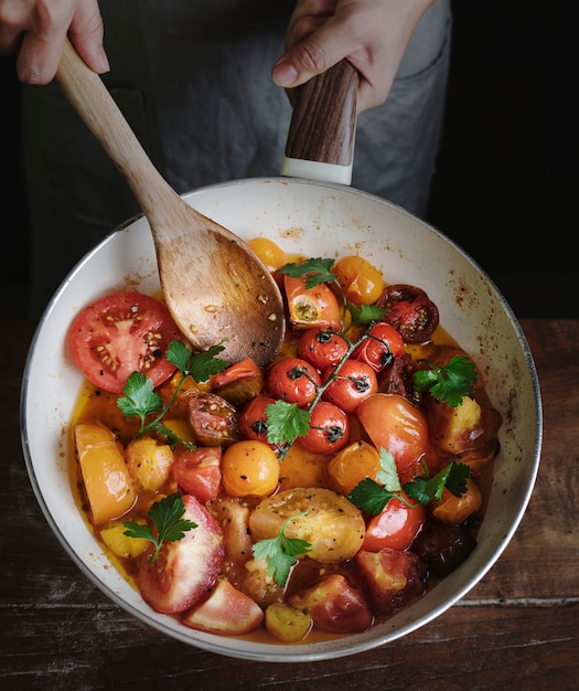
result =
M307 276L283 276L289 318L296 329L334 329L342 326L342 308L326 284L305 287Z

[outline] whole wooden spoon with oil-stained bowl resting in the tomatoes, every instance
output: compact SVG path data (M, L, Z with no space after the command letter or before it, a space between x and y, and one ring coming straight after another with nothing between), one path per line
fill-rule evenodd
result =
M265 366L286 331L279 288L234 233L192 209L163 180L115 100L66 40L56 79L117 166L151 227L164 299L197 350L226 339L229 362Z

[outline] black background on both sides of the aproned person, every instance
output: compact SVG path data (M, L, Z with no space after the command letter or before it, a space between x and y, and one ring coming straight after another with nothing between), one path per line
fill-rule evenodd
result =
M517 317L579 317L573 0L453 2L448 109L428 221ZM3 318L25 318L28 242L13 59L0 59Z

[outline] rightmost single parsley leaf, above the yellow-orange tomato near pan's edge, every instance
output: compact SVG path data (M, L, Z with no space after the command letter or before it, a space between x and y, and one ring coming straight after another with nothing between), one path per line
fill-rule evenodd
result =
M436 398L452 407L474 391L476 365L468 355L454 355L444 366L428 363L429 370L415 372L415 389L429 391Z

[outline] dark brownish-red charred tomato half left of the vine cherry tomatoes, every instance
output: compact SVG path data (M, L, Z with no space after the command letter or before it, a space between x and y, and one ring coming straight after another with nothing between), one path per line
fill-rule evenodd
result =
M222 396L204 393L189 402L189 423L199 444L228 446L239 439L237 411Z

